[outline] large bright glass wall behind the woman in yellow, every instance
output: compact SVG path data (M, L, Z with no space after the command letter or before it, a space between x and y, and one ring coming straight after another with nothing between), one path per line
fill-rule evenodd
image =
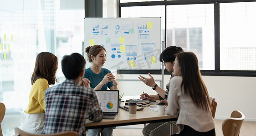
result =
M58 57L56 78L62 83L65 80L62 57L82 52L84 8L63 9L63 1L0 0L0 102L6 107L1 122L4 136L13 136L14 128L23 125L37 54L47 51Z

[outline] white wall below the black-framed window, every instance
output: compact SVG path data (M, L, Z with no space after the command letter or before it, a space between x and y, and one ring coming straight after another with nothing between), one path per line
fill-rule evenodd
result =
M143 75L148 78L148 75ZM117 79L138 79L137 74L118 74ZM153 75L161 79L161 75ZM170 75L164 75L164 88ZM256 77L203 76L209 95L216 98L215 119L226 119L234 110L245 114L245 120L256 121ZM118 82L120 93L124 96L140 95L142 91L156 94L143 82Z

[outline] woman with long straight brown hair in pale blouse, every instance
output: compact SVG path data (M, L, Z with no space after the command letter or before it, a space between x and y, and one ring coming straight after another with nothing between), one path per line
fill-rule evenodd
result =
M209 94L195 53L177 54L174 78L169 84L166 112L171 116L179 115L176 125L181 130L172 136L215 136Z

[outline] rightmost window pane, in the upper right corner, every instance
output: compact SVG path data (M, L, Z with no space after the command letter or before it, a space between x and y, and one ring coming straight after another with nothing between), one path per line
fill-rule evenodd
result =
M256 70L256 2L220 3L220 70Z

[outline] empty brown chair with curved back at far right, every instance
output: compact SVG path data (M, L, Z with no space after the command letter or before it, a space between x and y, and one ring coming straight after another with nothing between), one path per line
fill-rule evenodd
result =
M222 123L224 136L239 136L240 128L245 119L245 115L240 111L233 111L230 118Z

